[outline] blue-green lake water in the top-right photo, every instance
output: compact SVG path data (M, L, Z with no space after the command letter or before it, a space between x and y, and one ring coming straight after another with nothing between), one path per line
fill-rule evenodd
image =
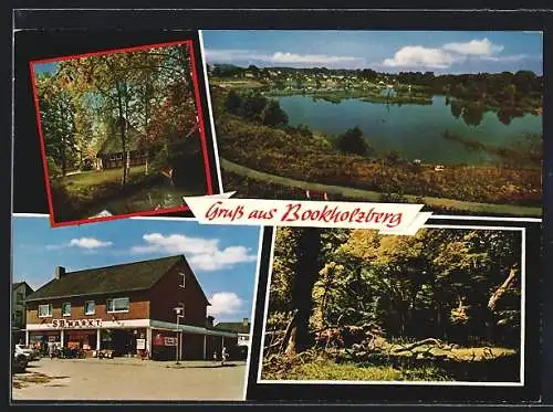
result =
M387 105L355 98L335 104L310 96L284 96L279 97L279 102L293 126L304 124L334 136L358 126L378 152L396 149L405 159L422 162L477 165L498 161L488 151L471 150L458 141L445 139L446 130L487 146L511 148L528 140L525 134L535 134L532 137L535 140L542 134L542 116L534 114L512 118L505 125L495 113L486 112L477 125L468 125L462 116L452 115L445 96L434 96L431 105Z

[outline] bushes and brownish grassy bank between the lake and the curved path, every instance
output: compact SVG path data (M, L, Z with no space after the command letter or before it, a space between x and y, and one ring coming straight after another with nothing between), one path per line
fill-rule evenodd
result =
M275 101L254 92L212 87L211 96L220 156L253 170L399 197L541 204L542 155L538 144L521 146L531 147L530 151L520 147L478 147L474 149L493 155L495 163L437 168L437 165L404 159L400 150L374 150L369 130L352 127L341 136L325 139L307 126L292 127ZM446 131L445 138L470 145L470 140ZM233 180L237 186L226 184L226 190L237 190L241 197L259 197L259 191L250 191Z

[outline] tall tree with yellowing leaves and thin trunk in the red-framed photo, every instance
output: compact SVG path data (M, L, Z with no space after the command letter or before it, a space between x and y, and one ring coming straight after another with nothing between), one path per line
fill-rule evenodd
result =
M140 131L143 146L167 146L171 136L196 123L189 59L186 45L175 45L60 63L59 74L70 78L65 88L79 98L92 95L101 117L115 120L125 157L123 186L136 144L129 141L131 127Z

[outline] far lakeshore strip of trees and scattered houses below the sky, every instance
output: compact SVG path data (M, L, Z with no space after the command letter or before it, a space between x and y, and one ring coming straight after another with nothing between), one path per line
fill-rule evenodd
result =
M388 104L430 104L434 95L455 99L470 110L493 110L502 119L541 113L543 76L531 71L515 73L441 74L434 72L383 73L371 68L325 67L210 67L217 84L242 81L268 96L309 95L332 103L344 98Z

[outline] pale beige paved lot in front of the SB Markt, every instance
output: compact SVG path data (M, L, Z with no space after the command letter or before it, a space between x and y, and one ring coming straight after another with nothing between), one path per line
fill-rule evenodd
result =
M48 359L12 379L19 400L242 400L246 362Z

